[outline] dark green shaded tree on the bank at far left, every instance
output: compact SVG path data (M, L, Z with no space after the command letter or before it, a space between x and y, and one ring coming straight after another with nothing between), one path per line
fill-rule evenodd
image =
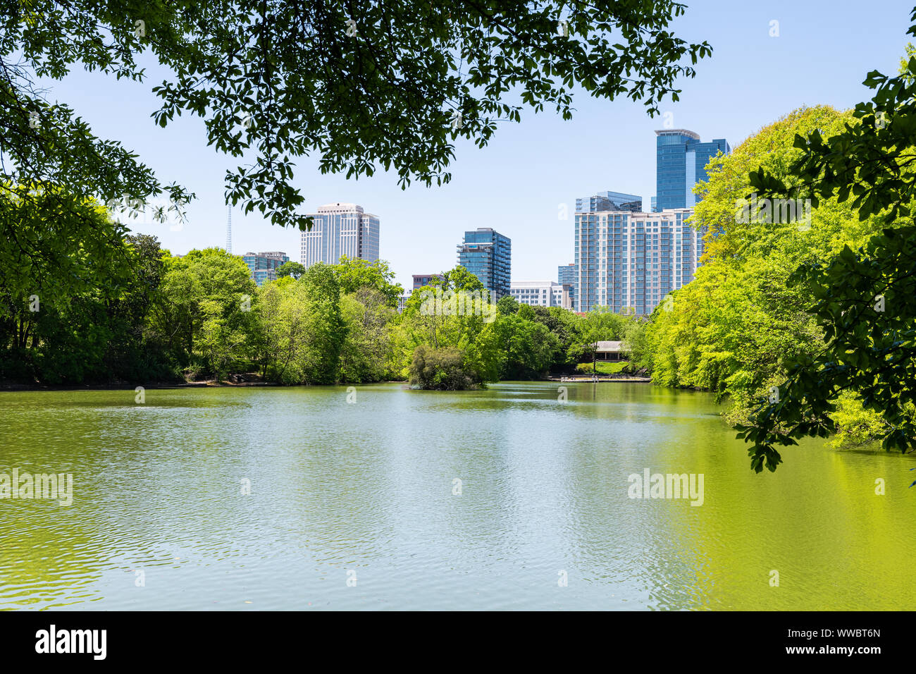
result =
M0 379L76 384L172 378L147 339L161 260L104 207L47 186L0 191Z

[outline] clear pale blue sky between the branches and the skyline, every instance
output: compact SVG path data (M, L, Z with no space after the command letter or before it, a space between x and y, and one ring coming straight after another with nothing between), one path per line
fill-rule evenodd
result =
M896 72L907 43L916 0L686 0L674 23L682 39L713 46L697 76L682 80L681 100L665 101L676 128L703 140L726 138L732 148L802 105L848 108L869 98L867 72ZM770 37L770 22L779 37ZM51 83L49 100L72 105L102 138L120 140L157 171L197 193L190 222L180 230L137 223L165 248L225 245L224 173L235 162L206 145L198 118L183 116L166 128L150 114L158 99L150 89L164 78L155 64L145 83L115 82L98 73L74 72ZM521 124L504 123L485 149L466 141L456 147L453 181L442 187L398 187L397 174L345 180L322 175L317 160L301 158L296 180L304 210L352 202L379 216L380 255L410 287L410 274L451 269L465 229L493 227L512 239L514 281L556 281L557 265L573 261L573 210L577 196L612 190L639 194L646 210L655 194L655 134L662 119L629 99L574 98L573 119L552 112L523 113ZM561 220L560 204L569 219ZM233 252L285 250L300 260L300 233L271 226L259 215L233 212Z

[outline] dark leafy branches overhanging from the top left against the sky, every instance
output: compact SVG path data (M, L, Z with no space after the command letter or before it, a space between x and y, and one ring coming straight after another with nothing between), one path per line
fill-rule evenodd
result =
M253 160L227 173L228 199L306 228L310 219L296 212L304 201L293 181L297 157L319 156L322 172L347 177L384 167L403 187L440 184L451 179L457 138L483 147L526 106L568 119L573 83L658 113L663 98L677 100L677 78L695 74L682 62L712 51L671 33L684 9L672 0L7 2L0 183L51 182L106 203L168 193L180 211L191 193L93 136L70 107L45 103L31 76L61 79L78 64L142 81L148 50L172 73L153 89L162 101L156 123L202 117L209 145Z

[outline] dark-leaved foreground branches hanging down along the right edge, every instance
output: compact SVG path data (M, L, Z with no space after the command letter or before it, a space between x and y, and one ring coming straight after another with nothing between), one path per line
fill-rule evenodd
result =
M916 25L907 32L916 35ZM854 122L828 138L815 130L795 139L802 152L788 177L750 176L762 193L810 198L815 205L835 197L849 201L860 219L876 216L884 225L858 249L845 247L834 260L797 271L795 280L812 288L810 310L825 344L790 359L786 380L740 428L758 472L764 465L776 470L782 460L776 447L833 432L836 401L846 392L880 416L878 437L886 449L916 449L916 57L898 76L869 72L864 84L876 93L856 105Z

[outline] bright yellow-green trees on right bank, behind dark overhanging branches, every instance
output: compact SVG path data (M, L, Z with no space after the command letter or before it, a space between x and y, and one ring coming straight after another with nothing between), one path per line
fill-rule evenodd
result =
M837 260L849 259L851 249L887 236L881 232L889 220L831 195L816 204L793 201L791 208L766 202L765 195L754 193L752 176L764 171L771 180L791 181L791 167L803 153L796 138L815 133L834 138L857 125L851 112L804 108L747 138L730 156L711 161L693 216L709 228L703 267L693 282L660 304L646 326L629 328L635 368L650 370L662 385L716 392L728 401L727 418L741 428L759 414L760 400L789 404L783 382L791 363L820 358L835 334L812 309L827 292L823 283L797 270L835 267ZM748 197L757 199L757 217L747 210ZM851 277L838 275L829 292L848 293L850 282ZM878 315L877 294L860 294L856 311ZM842 320L852 319L847 312ZM852 351L846 357L858 358ZM895 386L905 384L898 380ZM835 432L834 444L864 444L888 431L873 407L863 407L865 389L860 382L829 396L832 403L823 407L821 423ZM911 415L912 409L903 414ZM778 455L766 452L754 454L754 468L759 470L768 456L775 468Z

